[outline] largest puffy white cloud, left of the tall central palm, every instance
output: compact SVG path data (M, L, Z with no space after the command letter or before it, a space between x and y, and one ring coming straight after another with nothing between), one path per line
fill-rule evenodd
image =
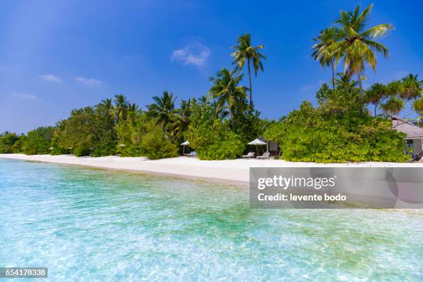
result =
M196 42L189 44L178 50L174 50L171 56L171 61L178 61L183 65L193 64L198 68L205 66L207 58L210 56L210 49Z

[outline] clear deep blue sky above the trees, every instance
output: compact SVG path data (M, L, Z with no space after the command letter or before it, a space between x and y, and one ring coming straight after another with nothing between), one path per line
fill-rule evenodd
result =
M310 57L312 38L357 4L375 3L369 25L391 23L368 80L423 78L422 1L1 1L0 131L54 125L77 107L123 93L145 109L153 95L207 93L209 76L230 67L244 32L265 45L253 79L261 116L279 118L314 102L330 79ZM341 67L339 68L341 71ZM247 79L244 79L245 84ZM413 116L404 111L402 116Z

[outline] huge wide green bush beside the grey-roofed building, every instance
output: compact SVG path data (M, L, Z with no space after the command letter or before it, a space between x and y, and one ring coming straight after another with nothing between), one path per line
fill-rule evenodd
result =
M281 147L283 160L306 162L404 162L404 134L391 121L361 113L359 94L326 91L314 108L303 102L283 122L270 124L265 138ZM350 102L348 102L350 101Z

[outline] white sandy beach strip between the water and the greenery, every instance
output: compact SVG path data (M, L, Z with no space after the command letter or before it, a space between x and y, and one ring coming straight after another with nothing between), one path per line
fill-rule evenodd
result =
M0 158L30 160L37 162L54 162L59 164L77 164L104 169L122 169L164 173L185 178L200 178L219 182L246 185L249 181L250 167L422 167L423 162L360 162L346 164L316 164L314 162L285 162L284 160L198 160L196 158L168 158L148 160L139 158L120 158L108 156L101 158L75 157L71 155L50 156L23 154L0 154Z

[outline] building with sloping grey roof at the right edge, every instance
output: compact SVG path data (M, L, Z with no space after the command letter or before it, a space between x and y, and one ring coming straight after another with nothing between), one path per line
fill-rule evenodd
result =
M413 156L413 158L419 156L423 151L423 129L395 116L392 117L392 126L393 129L406 133L405 140L407 147L413 148L412 153L407 153Z

